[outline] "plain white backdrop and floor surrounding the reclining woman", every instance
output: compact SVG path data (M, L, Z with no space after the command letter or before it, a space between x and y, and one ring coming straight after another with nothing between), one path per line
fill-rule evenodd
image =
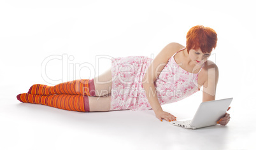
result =
M253 1L0 1L0 149L255 148L255 14ZM216 99L234 97L227 126L187 130L153 111L78 113L16 99L36 83L94 78L111 66L97 56L151 57L185 45L195 25L218 34ZM55 59L41 71L47 58ZM188 118L201 100L197 92L163 108Z

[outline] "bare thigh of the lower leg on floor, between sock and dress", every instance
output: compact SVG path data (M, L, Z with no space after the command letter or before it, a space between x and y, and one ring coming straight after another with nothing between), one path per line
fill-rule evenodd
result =
M106 97L89 97L90 111L110 111L110 95Z

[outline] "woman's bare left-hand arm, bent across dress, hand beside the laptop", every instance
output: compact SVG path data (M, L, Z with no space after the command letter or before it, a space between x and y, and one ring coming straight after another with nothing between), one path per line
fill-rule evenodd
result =
M157 99L157 94L155 93L156 89L153 82L158 78L160 72L166 66L169 58L171 58L171 56L173 56L176 51L183 47L184 46L178 43L167 44L167 46L164 47L162 51L160 51L157 57L155 57L152 64L150 64L143 78L143 88L146 92L146 97L148 98L148 102L155 112L155 116L160 119L160 121L162 121L162 119L165 119L166 121L172 121L175 119L175 117L172 114L162 110L162 107L159 104L159 100Z

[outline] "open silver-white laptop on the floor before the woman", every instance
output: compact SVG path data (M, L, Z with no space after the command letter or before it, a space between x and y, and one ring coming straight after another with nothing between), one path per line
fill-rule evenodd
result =
M233 98L202 102L192 120L172 121L171 123L176 126L192 129L217 125L217 121L223 118L227 112L232 99Z

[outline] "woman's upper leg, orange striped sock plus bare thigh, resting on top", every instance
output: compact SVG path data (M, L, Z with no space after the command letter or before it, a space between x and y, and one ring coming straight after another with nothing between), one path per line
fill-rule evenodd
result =
M94 79L77 79L60 83L55 86L36 84L29 89L29 94L33 95L54 95L73 94L88 96L104 96L111 92L112 76L111 68Z

